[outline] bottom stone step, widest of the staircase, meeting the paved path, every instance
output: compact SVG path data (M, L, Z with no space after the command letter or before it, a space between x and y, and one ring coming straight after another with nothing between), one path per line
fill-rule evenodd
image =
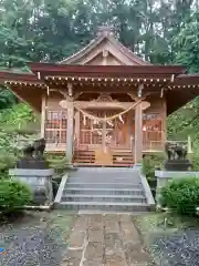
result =
M140 203L103 203L103 202L61 202L56 205L57 208L69 211L78 209L97 209L97 211L115 211L115 212L147 212L151 211L153 206Z

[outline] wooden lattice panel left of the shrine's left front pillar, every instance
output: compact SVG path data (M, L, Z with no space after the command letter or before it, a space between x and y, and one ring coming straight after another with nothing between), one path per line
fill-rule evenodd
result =
M46 111L45 140L52 144L66 144L67 112Z

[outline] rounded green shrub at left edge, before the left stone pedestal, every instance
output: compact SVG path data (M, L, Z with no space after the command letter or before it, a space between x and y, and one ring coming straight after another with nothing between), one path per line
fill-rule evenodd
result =
M0 181L0 211L11 213L23 207L32 200L32 194L27 185L8 178Z

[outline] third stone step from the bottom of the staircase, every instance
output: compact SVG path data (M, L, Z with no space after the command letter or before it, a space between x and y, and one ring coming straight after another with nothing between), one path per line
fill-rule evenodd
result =
M87 187L73 187L64 188L63 195L75 194L75 195L144 195L144 191L139 188L87 188Z

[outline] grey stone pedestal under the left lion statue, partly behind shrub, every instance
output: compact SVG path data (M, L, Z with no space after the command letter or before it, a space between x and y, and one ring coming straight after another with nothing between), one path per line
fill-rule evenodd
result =
M35 204L44 205L53 201L52 176L54 170L13 168L9 175L27 184L33 193Z

